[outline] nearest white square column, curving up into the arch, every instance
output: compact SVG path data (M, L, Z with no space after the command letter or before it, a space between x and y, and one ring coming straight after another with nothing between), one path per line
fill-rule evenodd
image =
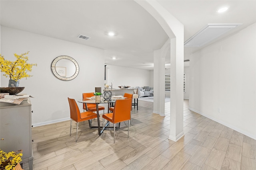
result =
M148 11L171 39L170 136L178 141L183 133L184 25L156 0L135 0ZM154 81L155 77L154 77ZM160 94L161 95L161 94Z

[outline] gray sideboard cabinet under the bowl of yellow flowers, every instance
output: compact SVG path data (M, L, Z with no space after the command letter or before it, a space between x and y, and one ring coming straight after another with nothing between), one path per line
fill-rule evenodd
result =
M22 162L33 170L31 135L31 104L25 99L20 105L0 102L0 148L4 152L23 150Z

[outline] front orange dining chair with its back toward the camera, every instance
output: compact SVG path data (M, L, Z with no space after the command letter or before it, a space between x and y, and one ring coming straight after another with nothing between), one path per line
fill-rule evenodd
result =
M130 120L131 120L131 105L132 99L123 99L123 100L116 100L116 104L114 106L113 113L106 113L102 115L103 118L103 126L104 126L104 119L110 121L114 124L114 143L115 143L115 131L116 123L120 123L122 121L128 120L128 138L129 138L129 129L130 129Z

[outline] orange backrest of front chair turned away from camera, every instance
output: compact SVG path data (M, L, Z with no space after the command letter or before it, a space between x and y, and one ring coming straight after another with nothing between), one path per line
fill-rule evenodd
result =
M115 123L131 119L131 105L132 98L116 100L112 117Z

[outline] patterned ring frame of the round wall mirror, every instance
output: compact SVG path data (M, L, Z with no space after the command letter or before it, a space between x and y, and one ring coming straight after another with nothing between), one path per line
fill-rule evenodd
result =
M71 77L62 77L60 76L57 72L56 72L56 69L55 69L55 66L56 66L56 63L61 60L61 59L68 59L70 61L72 61L75 66L76 66L76 72L73 76ZM66 56L66 55L61 55L59 57L56 57L53 61L52 61L52 73L54 74L54 76L56 76L58 79L60 80L64 80L64 81L69 81L69 80L73 80L74 78L76 78L76 76L78 75L78 72L79 72L79 66L78 66L78 63L76 62L75 59L73 59L72 57L69 57L69 56Z

